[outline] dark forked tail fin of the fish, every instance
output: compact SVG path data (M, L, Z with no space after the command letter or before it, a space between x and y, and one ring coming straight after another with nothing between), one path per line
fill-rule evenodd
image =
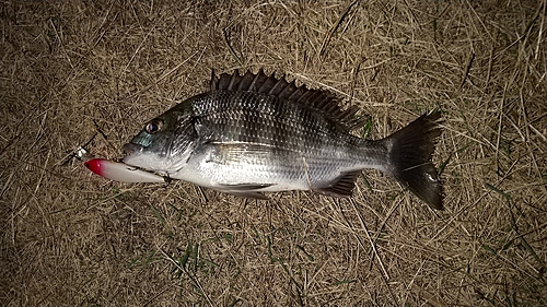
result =
M383 140L388 151L388 173L431 208L442 210L442 185L431 162L441 134L439 111L424 114Z

